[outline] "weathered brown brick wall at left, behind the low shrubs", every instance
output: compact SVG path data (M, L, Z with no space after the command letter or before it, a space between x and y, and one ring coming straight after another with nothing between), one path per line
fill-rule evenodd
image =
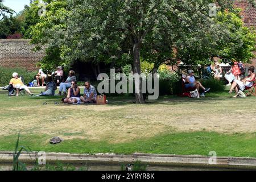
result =
M0 39L0 67L22 67L36 71L36 64L42 60L44 50L32 51L35 46L27 39Z

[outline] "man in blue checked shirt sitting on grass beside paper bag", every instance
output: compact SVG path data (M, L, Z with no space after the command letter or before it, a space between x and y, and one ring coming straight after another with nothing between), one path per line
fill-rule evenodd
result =
M89 81L86 81L84 89L84 96L81 96L80 99L85 103L96 103L97 101L97 92L94 86L90 85Z

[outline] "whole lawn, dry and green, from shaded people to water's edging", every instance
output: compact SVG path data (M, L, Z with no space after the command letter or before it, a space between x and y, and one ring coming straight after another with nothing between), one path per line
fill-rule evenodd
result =
M39 93L39 89L31 89ZM61 97L7 97L0 92L0 150L96 154L134 152L256 157L256 97L227 92L192 99L163 96L145 105L109 97L109 105L55 105ZM47 102L47 105L43 105ZM64 141L49 144L59 136Z

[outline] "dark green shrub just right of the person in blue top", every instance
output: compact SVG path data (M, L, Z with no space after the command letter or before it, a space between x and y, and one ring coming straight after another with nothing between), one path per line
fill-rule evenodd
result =
M224 81L222 80L209 78L205 80L202 79L200 82L205 88L210 88L210 92L221 92L225 90Z

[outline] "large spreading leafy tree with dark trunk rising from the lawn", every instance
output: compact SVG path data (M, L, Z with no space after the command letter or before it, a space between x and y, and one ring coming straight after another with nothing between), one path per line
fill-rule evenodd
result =
M209 4L216 2L219 12L233 11L229 0L47 2L46 16L32 32L33 43L55 48L65 63L132 60L138 74L141 56L156 69L168 59L195 61L216 55L219 40L228 41L230 30L209 15ZM135 95L137 103L144 103L141 92Z

